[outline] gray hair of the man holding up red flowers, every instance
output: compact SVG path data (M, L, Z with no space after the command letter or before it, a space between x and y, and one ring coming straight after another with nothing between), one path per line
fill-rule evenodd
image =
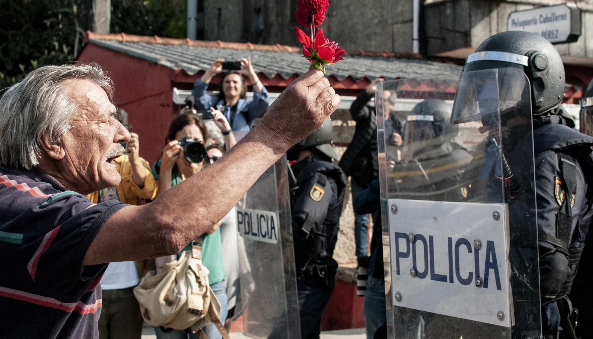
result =
M43 66L12 85L0 98L0 164L11 168L39 165L39 144L50 136L56 142L72 127L79 109L64 83L85 79L113 95L113 82L96 63Z

